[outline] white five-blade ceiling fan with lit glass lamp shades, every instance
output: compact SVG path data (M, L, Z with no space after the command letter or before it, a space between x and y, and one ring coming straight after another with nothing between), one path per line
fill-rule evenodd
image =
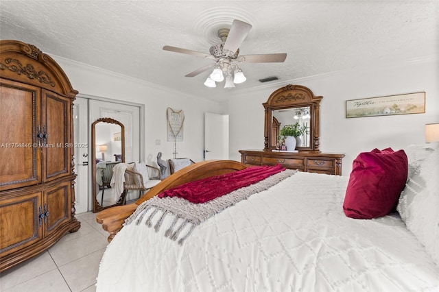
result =
M209 49L209 53L202 53L199 51L192 51L190 49L182 49L179 47L164 46L165 51L174 51L176 53L186 53L188 55L198 56L213 60L212 64L202 66L191 73L185 75L186 77L194 77L204 71L213 67L213 72L207 77L204 85L209 87L216 87L215 82L222 82L224 75L226 75L226 84L224 88L233 88L235 84L246 81L244 73L242 73L237 62L249 63L268 63L268 62L284 62L287 58L286 53L268 53L257 55L242 55L239 56L239 46L244 41L252 25L235 19L230 29L222 28L218 30L218 36L222 42L219 42Z

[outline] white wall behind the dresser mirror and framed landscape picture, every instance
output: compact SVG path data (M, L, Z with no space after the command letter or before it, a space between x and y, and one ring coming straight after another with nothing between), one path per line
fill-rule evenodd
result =
M346 154L342 172L349 175L352 162L361 151L370 151L375 147L396 150L425 142L425 123L439 123L438 80L438 58L429 57L291 80L237 93L228 106L230 159L241 160L239 149L263 149L262 103L277 88L298 84L309 87L314 95L323 96L320 104L320 150ZM426 92L425 114L345 118L346 100L419 91Z

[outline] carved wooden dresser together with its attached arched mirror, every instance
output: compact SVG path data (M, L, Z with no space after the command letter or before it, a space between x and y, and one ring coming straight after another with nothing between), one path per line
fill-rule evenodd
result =
M239 150L246 165L278 165L299 171L342 175L344 154L320 151L320 101L311 89L288 84L274 90L262 105L264 114L264 149ZM300 132L283 132L284 127ZM287 134L296 134L295 151L279 151Z

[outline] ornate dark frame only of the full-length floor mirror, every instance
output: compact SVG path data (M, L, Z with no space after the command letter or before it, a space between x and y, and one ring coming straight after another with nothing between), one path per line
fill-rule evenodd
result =
M96 187L96 125L98 123L113 123L116 125L119 125L121 127L121 159L118 160L120 162L125 162L125 126L123 125L123 123L116 121L115 119L111 119L111 118L100 118L97 119L96 121L93 122L93 124L91 125L91 153L92 153L92 171L91 171L91 175L92 175L92 181L93 181L93 187L92 187L92 194L93 194L93 212L99 212L100 210L104 210L106 208L112 207L112 206L116 206L121 204L122 200L121 198L119 198L119 200L117 201L116 204L112 204L112 205L108 205L108 206L102 206L101 204L99 204L99 201L97 200L97 193L99 193L99 189Z

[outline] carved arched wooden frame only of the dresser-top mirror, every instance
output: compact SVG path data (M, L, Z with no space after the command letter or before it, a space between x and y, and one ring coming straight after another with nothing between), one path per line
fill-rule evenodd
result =
M263 103L265 108L265 129L264 129L264 150L272 151L276 149L273 141L274 137L272 126L276 118L273 117L274 110L285 110L291 108L303 108L309 106L309 145L307 147L296 147L299 151L319 151L319 123L320 123L320 101L322 96L315 96L313 92L301 85L288 84L274 91L268 101ZM282 127L282 125L281 125Z

